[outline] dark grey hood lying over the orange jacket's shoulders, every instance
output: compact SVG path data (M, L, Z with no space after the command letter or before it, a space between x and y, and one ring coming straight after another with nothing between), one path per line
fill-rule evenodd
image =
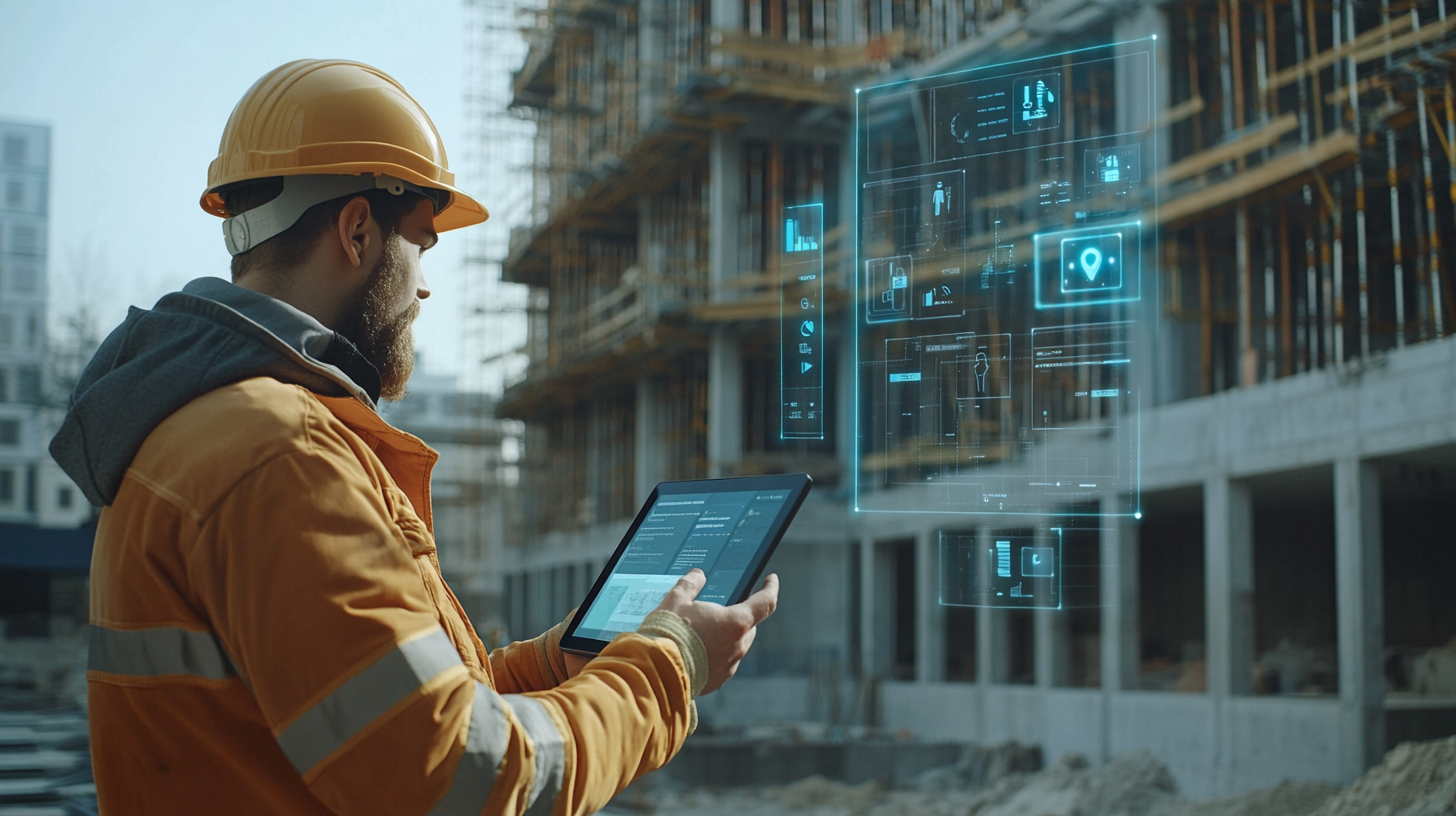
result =
M374 408L379 370L342 335L281 300L198 278L132 307L96 350L51 440L51 456L92 504L106 506L153 428L204 393L274 377Z

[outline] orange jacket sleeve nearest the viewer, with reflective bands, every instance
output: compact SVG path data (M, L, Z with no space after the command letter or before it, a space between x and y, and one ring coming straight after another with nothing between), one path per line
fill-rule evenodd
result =
M400 519L342 437L256 468L205 517L198 603L304 784L352 813L603 807L689 731L674 641L622 635L552 691L498 694L441 628Z

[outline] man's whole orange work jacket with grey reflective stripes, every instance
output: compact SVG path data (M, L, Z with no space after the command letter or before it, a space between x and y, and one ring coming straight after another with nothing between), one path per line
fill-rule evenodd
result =
M434 460L268 377L156 427L92 561L103 813L575 815L671 759L671 641L620 635L561 685L534 643L486 657L440 576Z

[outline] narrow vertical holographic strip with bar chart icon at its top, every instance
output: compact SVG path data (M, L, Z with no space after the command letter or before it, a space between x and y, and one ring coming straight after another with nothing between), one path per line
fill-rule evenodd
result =
M783 208L779 255L782 439L824 439L824 205Z

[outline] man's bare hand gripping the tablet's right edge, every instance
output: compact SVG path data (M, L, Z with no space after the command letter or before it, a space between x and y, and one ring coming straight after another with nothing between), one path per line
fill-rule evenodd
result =
M743 603L724 606L711 600L695 600L708 583L702 570L689 570L667 590L658 609L673 612L687 621L708 647L708 685L702 694L718 691L738 670L738 662L748 654L761 624L779 606L779 576L763 578L763 589Z

